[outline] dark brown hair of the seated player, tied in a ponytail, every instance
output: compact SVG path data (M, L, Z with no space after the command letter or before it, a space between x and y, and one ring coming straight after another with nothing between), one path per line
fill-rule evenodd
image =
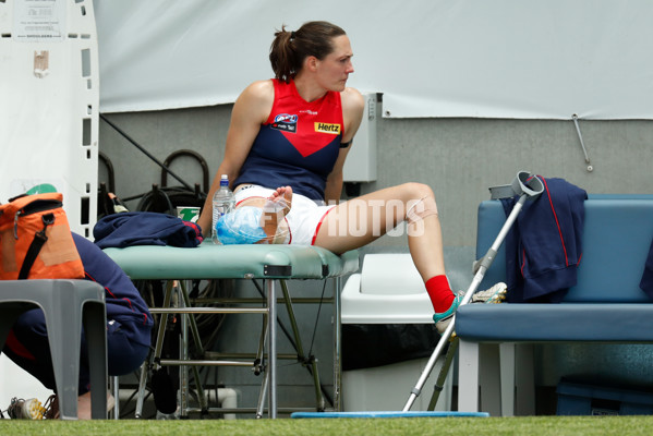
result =
M289 83L301 70L304 59L309 56L324 59L334 50L331 39L341 35L346 35L342 28L326 21L304 23L294 32L281 26L270 46L269 59L275 77Z

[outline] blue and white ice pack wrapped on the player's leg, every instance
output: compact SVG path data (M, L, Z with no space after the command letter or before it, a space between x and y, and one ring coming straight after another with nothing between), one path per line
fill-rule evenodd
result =
M225 245L254 244L266 238L261 228L259 207L243 206L225 214L218 219L218 240Z

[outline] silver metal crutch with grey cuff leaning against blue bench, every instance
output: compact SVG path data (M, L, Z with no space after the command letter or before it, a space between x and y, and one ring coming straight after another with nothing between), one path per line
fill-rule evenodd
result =
M512 196L512 195L519 195L519 201L512 207L512 211L510 213L508 218L506 218L506 222L501 227L499 234L497 235L496 240L494 241L494 243L492 244L492 246L489 247L489 250L487 251L485 256L483 256L483 258L480 259L474 265L475 275L474 275L474 278L472 279L472 283L468 288L462 301L460 302L461 306L469 303L470 300L472 299L472 295L474 294L474 292L476 292L479 284L481 284L481 281L483 281L485 271L489 268L489 266L494 262L494 258L496 257L499 246L501 245L501 243L506 239L506 235L508 234L508 231L510 230L510 228L517 220L517 216L521 211L521 208L523 207L523 204L525 203L527 198L534 199L540 194L542 194L543 191L544 191L544 185L543 185L542 181L536 175L531 177L531 174L528 171L518 172L517 177L512 181L511 185L491 187L491 193L492 193L493 198L501 198L501 197L508 197L508 196ZM454 318L449 323L449 326L443 334L440 340L437 342L437 346L435 347L435 350L433 351L431 359L428 359L426 367L424 368L424 371L422 372L422 375L418 379L415 387L411 390L408 401L406 402L406 405L403 407L403 412L408 412L412 408L415 399L422 392L422 388L424 387L424 384L426 383L428 375L431 375L431 372L433 371L433 367L435 366L437 359L440 356L440 354L443 353L443 350L447 346L447 342L454 335L455 324L456 324L456 315L454 315ZM443 371L446 371L446 368L448 368L448 366L449 365L445 364L443 366ZM438 382L439 382L439 378L438 378Z

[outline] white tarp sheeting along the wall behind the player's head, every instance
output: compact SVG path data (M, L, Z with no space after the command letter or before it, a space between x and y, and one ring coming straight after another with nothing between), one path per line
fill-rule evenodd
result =
M101 110L234 101L275 29L327 20L385 117L651 119L653 2L95 0Z

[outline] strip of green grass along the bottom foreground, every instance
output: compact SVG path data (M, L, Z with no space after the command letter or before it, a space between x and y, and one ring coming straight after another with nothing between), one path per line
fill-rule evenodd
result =
M0 435L651 435L653 416L0 421Z

